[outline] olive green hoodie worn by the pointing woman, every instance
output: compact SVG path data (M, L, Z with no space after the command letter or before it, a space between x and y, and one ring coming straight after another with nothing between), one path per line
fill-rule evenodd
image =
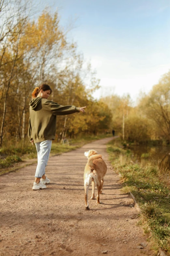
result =
M41 97L33 98L29 105L28 137L35 143L55 139L57 115L69 115L80 111L80 108L75 106L62 106Z

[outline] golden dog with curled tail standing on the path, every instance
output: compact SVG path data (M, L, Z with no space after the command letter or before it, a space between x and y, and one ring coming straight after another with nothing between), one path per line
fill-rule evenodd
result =
M92 183L92 197L95 199L94 188L97 187L97 203L100 204L100 194L102 194L104 176L107 172L107 166L102 155L95 150L85 151L84 155L88 158L84 169L84 190L85 190L85 207L89 210L88 191Z

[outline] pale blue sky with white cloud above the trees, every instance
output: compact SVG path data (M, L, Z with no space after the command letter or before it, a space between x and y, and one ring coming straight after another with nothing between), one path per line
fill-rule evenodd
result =
M149 93L170 70L170 0L46 0L58 10L101 88L95 98Z

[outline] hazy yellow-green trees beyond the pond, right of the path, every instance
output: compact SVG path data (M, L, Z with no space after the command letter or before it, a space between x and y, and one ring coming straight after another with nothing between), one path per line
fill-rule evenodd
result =
M111 110L111 126L123 141L170 143L170 71L148 94L139 96L136 106L129 95L111 95L101 100Z

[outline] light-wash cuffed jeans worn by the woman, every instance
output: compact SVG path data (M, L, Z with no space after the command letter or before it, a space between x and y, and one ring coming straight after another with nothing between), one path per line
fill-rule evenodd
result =
M45 174L45 168L50 156L51 144L52 140L35 143L38 158L35 178L42 178L42 176Z

